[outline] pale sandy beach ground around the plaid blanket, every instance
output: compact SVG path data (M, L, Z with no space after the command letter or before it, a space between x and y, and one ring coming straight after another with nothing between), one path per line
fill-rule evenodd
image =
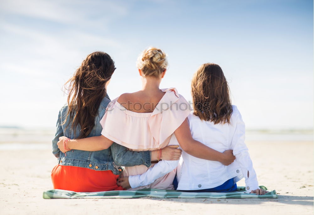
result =
M313 214L313 142L247 141L260 185L278 199L51 199L50 143L0 142L0 214ZM37 147L36 147L37 146ZM238 185L244 185L241 180Z

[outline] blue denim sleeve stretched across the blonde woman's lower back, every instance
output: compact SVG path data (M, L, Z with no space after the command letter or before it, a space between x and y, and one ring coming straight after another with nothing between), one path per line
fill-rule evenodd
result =
M145 165L150 167L150 151L136 152L117 143L111 145L111 153L116 165L119 166L137 166Z

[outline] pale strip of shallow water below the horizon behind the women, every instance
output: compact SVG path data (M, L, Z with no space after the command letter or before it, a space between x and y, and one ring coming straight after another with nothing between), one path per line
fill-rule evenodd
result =
M0 128L0 151L51 150L54 129ZM246 131L246 141L313 141L312 130Z

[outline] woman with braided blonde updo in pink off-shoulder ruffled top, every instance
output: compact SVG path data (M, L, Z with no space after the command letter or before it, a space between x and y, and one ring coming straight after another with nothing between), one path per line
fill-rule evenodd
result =
M76 140L62 137L58 142L60 150L89 148L97 151L116 142L132 151L156 151L158 163L150 167L125 167L117 184L129 190L173 189L178 161L164 160L160 151L168 145L180 144L186 153L194 157L231 164L234 160L231 150L218 152L192 138L186 99L175 88L159 88L167 66L165 52L154 47L144 50L137 61L142 89L122 94L111 101L100 121L103 127L101 136ZM64 148L66 140L67 149Z

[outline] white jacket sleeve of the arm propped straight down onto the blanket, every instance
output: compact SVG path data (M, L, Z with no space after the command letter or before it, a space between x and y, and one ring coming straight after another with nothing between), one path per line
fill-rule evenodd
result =
M248 148L244 142L245 124L237 109L234 110L234 114L236 114L236 131L232 137L231 148L233 149L233 154L236 156L236 161L240 165L242 174L244 175L246 191L250 193L252 190L259 189L257 176L253 169L253 163Z

